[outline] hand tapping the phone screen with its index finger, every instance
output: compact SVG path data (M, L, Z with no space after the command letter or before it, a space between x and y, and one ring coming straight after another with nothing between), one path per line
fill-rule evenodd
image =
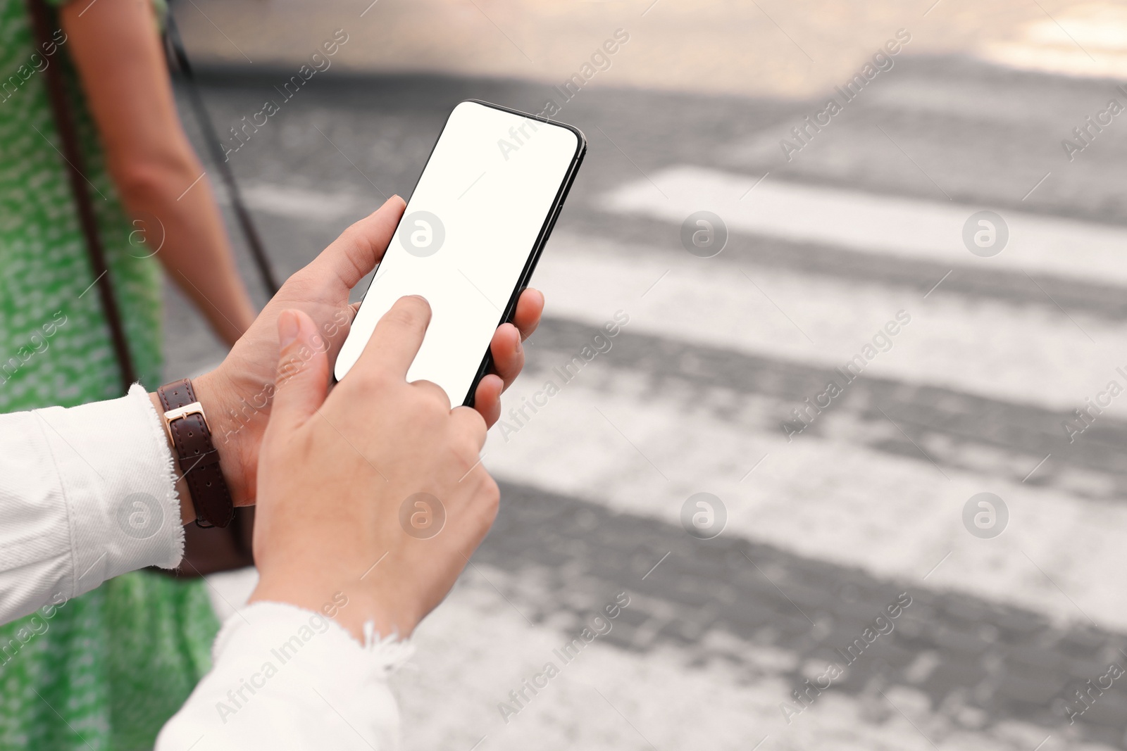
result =
M406 637L450 591L497 513L481 466L481 414L450 408L429 382L407 383L431 320L403 297L328 397L329 358L303 312L278 316L279 370L258 462L251 601L321 611L362 638ZM302 348L307 352L295 357ZM300 367L292 367L293 363Z

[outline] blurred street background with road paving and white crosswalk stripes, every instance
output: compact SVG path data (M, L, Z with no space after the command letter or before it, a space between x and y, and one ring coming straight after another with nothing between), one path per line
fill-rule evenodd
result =
M282 102L230 160L284 275L409 196L461 99L552 100L589 141L506 410L616 312L629 323L547 406L491 431L502 512L397 678L406 749L1127 748L1111 670L1127 669L1127 396L1109 388L1127 386L1127 115L1109 106L1127 107L1124 6L174 11L222 129ZM331 68L283 99L337 29ZM583 73L619 29L609 68ZM900 29L893 66L797 140ZM553 87L577 73L565 101ZM727 226L712 258L681 241L698 211ZM962 240L979 211L1009 229L993 257ZM788 439L897 314L891 348ZM222 358L179 298L167 325L190 342L169 378ZM1088 400L1102 406L1070 440ZM682 525L699 492L726 510L712 539ZM982 492L1008 509L992 538L964 522ZM227 607L248 576L214 583ZM560 660L620 592L610 633ZM894 631L846 664L902 593ZM548 662L559 674L525 689ZM808 690L829 663L844 673Z

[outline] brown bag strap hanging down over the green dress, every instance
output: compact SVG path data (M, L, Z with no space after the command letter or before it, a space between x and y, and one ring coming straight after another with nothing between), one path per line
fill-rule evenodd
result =
M44 0L27 0L27 9L32 15L32 26L35 37L41 48L43 45L52 43L52 32L57 28L54 15L47 8ZM94 204L90 200L90 191L83 173L85 160L82 149L78 137L78 128L74 125L74 117L70 110L70 102L66 99L66 81L60 65L47 65L44 69L47 82L47 95L51 99L51 113L54 115L55 127L59 137L62 140L62 154L66 161L66 171L70 177L71 194L74 197L74 205L78 208L79 224L82 234L86 236L86 249L90 257L90 266L95 274L95 285L98 287L98 296L101 298L101 311L109 324L109 334L114 343L114 352L117 355L117 365L122 375L122 393L130 390L136 381L136 370L133 367L133 357L130 355L128 342L125 338L125 328L122 325L121 312L117 309L117 301L114 298L114 286L109 279L109 268L106 266L106 253L101 245L101 236L98 234L98 221L94 213Z

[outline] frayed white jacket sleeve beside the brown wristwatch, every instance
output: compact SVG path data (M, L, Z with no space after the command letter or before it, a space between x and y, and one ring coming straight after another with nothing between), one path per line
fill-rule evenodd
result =
M162 430L141 386L106 402L0 415L0 622L126 571L180 562Z

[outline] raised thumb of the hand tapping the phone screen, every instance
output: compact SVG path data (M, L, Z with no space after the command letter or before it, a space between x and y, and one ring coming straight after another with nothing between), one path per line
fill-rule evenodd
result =
M328 340L301 311L278 315L278 370L270 421L304 422L325 402L329 390Z

